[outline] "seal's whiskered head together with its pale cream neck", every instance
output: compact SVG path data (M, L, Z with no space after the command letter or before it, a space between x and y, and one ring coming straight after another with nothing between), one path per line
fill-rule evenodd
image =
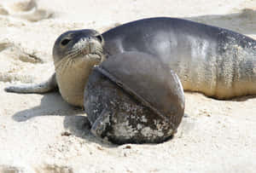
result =
M95 30L64 32L55 41L53 59L62 98L83 106L84 85L93 66L104 60L103 37Z

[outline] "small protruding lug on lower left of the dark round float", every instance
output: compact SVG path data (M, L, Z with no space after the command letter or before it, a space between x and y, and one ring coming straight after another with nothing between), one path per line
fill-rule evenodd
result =
M110 114L108 111L103 110L102 114L96 118L96 121L91 125L91 133L97 137L104 137L105 132L110 124Z

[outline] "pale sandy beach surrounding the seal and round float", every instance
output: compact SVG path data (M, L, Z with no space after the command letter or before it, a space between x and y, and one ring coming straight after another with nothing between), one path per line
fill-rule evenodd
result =
M58 93L3 91L54 72L51 49L61 32L102 32L154 16L256 38L255 0L0 1L0 172L256 172L255 96L217 101L186 93L186 117L172 140L115 146L92 136L84 113Z

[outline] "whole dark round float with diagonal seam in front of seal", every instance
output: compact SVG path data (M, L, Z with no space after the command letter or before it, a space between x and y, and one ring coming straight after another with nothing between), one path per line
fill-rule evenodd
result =
M84 111L95 136L116 144L159 143L176 133L183 118L183 87L154 56L125 52L90 73Z

